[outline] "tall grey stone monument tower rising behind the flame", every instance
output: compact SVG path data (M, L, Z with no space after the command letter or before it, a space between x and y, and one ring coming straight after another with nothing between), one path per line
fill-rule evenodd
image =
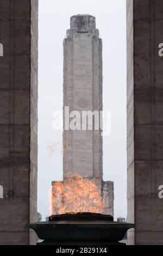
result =
M102 39L96 28L96 19L91 15L74 15L71 28L64 40L64 124L69 112L83 111L100 113L102 100ZM70 118L71 121L71 118ZM82 121L82 120L80 120ZM113 215L113 182L103 181L103 139L100 121L95 129L71 130L64 127L63 172L64 179L71 172L95 180L105 197L105 213ZM82 123L82 122L81 122ZM54 184L54 182L52 182ZM109 199L108 199L109 198Z

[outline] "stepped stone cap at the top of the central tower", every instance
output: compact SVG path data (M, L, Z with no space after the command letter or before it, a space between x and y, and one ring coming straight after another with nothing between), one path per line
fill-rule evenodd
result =
M70 29L67 30L67 37L76 33L91 33L99 37L96 17L89 14L73 15L70 19Z

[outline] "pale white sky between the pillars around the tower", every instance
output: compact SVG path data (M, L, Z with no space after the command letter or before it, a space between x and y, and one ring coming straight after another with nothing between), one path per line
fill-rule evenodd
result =
M62 180L62 132L52 113L62 110L63 47L70 17L90 14L103 39L103 105L111 111L111 135L103 139L104 180L114 181L115 220L127 217L126 0L39 0L38 211L49 216L48 193Z

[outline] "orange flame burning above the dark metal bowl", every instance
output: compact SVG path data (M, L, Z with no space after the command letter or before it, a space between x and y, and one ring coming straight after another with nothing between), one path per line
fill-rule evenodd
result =
M104 212L104 197L96 184L87 177L71 175L52 187L52 214Z

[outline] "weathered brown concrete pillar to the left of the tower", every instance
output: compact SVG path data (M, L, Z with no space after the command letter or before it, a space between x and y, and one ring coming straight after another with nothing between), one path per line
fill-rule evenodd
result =
M37 0L0 1L0 245L36 242L24 225L37 207L37 10Z

